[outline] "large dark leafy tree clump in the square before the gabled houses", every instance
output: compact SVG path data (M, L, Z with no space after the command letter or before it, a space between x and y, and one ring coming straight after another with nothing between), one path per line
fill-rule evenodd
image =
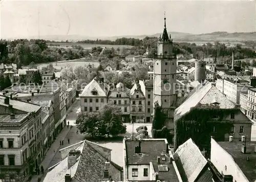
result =
M80 133L90 134L93 138L126 132L126 126L121 120L121 110L112 103L96 112L80 113L76 125Z

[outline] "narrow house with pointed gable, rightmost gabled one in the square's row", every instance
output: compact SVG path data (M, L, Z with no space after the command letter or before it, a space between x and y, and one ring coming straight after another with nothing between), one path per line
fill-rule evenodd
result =
M131 98L131 121L136 123L145 122L145 96L139 83L135 83L130 90Z

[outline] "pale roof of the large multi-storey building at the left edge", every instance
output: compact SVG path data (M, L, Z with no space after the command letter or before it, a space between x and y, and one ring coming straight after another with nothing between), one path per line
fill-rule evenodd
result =
M8 105L5 104L5 98L6 97L4 96L0 96L0 105L8 107ZM25 101L14 100L14 99L9 99L9 105L12 105L14 109L22 110L25 112L33 112L33 111L36 112L41 108L41 106L39 105L32 104Z

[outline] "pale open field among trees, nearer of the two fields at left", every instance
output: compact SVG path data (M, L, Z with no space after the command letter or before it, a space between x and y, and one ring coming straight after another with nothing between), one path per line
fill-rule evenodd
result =
M37 67L46 67L48 64L50 63L41 63L41 64L37 64ZM55 69L57 70L61 70L61 67L68 67L69 65L71 67L75 67L75 66L87 66L89 64L94 64L94 67L98 67L99 66L99 62L95 61L95 62L86 62L86 61L70 61L70 62L53 62L52 65Z

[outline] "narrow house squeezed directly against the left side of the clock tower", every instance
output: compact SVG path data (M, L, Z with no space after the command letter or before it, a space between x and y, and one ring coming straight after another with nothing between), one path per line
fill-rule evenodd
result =
M153 80L145 81L142 80L139 81L141 91L143 95L145 96L145 122L151 123L153 120L153 112L154 112L154 106L153 106Z

